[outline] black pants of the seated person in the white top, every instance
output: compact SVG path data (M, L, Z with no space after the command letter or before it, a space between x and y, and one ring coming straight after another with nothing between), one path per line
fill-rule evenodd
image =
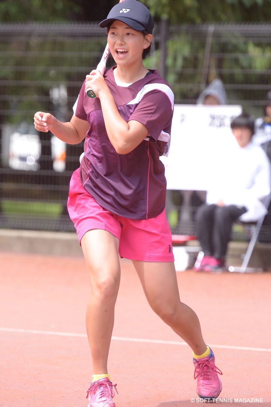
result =
M196 235L205 256L225 258L230 240L232 223L243 213L245 207L203 204L196 215Z

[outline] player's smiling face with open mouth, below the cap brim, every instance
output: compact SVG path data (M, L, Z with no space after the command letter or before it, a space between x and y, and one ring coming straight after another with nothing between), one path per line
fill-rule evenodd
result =
M144 37L142 32L135 31L127 24L116 20L109 28L107 41L116 63L126 65L142 60L143 49L149 46L151 37L151 34Z

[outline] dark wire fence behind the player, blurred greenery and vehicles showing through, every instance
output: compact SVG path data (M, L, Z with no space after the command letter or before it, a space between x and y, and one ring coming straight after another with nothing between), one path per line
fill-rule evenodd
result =
M74 230L66 201L83 145L37 134L33 114L49 111L70 120L85 74L96 68L105 48L105 30L97 27L0 24L1 228ZM113 63L109 57L108 67ZM157 68L170 83L175 103L196 103L201 90L218 77L229 104L262 116L271 88L271 24L162 22L146 66ZM192 209L198 204L195 197Z

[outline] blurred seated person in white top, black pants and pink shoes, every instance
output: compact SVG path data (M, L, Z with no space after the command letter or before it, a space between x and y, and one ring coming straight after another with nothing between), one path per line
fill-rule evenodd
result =
M223 151L219 157L206 203L196 215L196 235L204 253L194 266L197 271L223 271L232 223L257 221L267 213L262 199L271 190L270 162L251 140L254 117L243 113L232 120L231 128L236 143L229 155Z

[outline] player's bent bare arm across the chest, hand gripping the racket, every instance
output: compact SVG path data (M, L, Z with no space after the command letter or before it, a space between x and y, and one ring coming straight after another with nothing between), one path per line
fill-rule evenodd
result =
M95 72L95 73L94 73ZM118 154L127 154L149 135L147 128L136 120L128 123L120 116L114 98L99 71L87 75L86 88L91 88L101 101L105 128Z

